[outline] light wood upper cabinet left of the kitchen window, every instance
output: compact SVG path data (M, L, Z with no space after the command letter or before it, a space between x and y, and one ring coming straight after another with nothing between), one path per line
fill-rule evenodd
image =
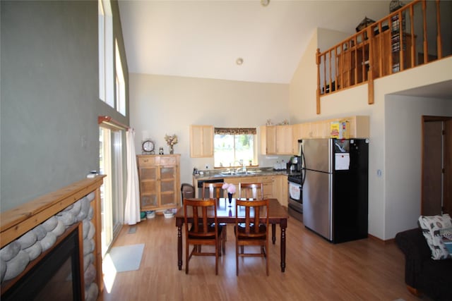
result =
M213 125L190 125L190 156L213 157Z

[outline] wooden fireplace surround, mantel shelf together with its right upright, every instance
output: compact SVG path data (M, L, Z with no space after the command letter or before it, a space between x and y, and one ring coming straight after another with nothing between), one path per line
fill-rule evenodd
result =
M40 225L60 211L71 206L79 199L94 192L91 202L93 207L93 225L95 226L94 240L94 267L96 269L95 283L102 291L102 251L101 251L101 217L100 217L100 186L105 176L86 178L68 185L60 190L23 204L0 214L0 249L23 234ZM82 259L83 260L83 259ZM31 262L30 262L31 264ZM83 266L83 264L82 264Z

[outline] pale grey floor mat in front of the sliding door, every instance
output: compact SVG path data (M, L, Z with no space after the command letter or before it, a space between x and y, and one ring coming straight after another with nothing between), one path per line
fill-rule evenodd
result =
M109 255L112 259L114 269L120 271L136 271L140 269L141 257L143 257L144 244L124 245L112 247Z

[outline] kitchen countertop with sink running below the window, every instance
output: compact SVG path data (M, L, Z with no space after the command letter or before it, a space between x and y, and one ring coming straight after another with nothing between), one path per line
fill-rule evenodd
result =
M260 177L260 176L290 176L293 173L288 172L286 169L275 170L272 167L253 167L246 168L246 172L240 171L239 173L227 173L227 169L218 169L203 171L203 175L193 175L196 180L214 180L218 178L239 178L239 177Z

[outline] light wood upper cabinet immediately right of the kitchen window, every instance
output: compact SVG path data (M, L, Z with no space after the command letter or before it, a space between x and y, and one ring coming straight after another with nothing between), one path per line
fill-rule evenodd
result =
M260 132L262 154L293 154L292 125L263 125Z

